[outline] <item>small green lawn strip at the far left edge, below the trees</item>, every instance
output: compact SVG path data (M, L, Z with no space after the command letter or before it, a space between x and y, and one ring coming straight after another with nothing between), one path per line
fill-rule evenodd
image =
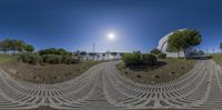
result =
M0 54L0 66L9 64L17 61L16 56Z

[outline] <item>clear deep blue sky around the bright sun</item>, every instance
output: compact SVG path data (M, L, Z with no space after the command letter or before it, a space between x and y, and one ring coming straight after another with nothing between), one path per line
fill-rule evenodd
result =
M222 0L0 0L0 40L22 39L37 50L92 51L95 43L95 51L149 52L183 28L201 32L198 49L219 51Z

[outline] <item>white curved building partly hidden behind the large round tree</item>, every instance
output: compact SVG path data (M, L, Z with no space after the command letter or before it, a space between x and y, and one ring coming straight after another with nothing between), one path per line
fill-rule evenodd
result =
M182 30L184 30L184 29L180 29L179 31L182 31ZM162 39L160 39L157 49L161 50L161 52L163 52L163 53L167 53L168 58L176 58L178 57L178 52L169 52L169 51L167 51L168 50L168 39L169 39L169 37L171 34L173 34L173 32L170 32L167 36L164 36ZM184 57L184 56L189 57L191 54L192 50L193 50L192 47L186 49L185 50L185 54L184 54L183 51L180 51L180 57Z

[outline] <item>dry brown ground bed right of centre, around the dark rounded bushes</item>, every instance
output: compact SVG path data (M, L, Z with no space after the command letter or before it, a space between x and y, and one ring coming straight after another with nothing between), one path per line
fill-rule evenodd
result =
M188 59L160 59L153 67L125 67L123 62L117 64L122 76L140 83L168 82L189 72L195 60Z

